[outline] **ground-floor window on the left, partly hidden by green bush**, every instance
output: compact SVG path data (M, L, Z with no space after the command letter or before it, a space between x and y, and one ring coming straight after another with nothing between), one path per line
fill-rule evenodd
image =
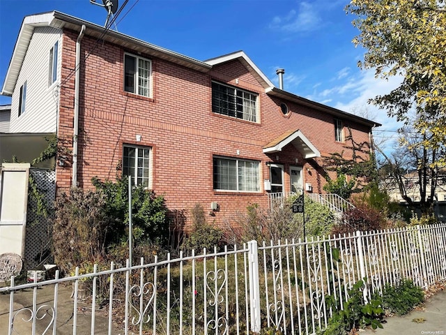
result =
M124 146L123 174L132 177L132 184L151 186L150 156L149 147Z

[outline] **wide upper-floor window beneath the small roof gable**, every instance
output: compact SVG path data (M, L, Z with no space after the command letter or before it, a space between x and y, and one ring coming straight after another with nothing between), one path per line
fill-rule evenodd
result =
M212 111L247 121L257 121L257 94L212 83Z

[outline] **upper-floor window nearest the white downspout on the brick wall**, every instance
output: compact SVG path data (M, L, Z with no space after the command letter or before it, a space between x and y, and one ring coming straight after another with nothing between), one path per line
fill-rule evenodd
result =
M124 91L139 96L151 96L151 73L151 61L124 54Z

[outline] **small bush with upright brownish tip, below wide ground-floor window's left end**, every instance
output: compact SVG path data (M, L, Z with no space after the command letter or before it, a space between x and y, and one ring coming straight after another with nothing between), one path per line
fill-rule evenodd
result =
M206 214L201 204L195 204L191 210L193 229L185 237L182 248L185 250L197 249L213 251L214 246L221 246L223 241L223 231L209 225L206 222Z

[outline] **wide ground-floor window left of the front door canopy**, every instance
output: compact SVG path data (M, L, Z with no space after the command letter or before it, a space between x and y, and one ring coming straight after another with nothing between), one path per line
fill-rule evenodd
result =
M259 162L214 157L214 189L259 192Z

